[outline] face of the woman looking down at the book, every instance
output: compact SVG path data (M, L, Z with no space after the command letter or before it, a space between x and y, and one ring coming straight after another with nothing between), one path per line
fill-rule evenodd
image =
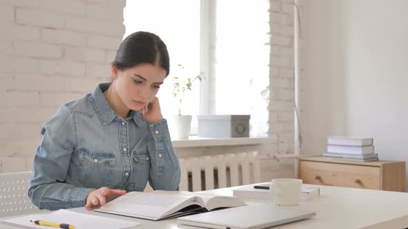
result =
M155 97L166 77L166 71L150 63L118 70L112 67L115 91L129 110L140 110Z

